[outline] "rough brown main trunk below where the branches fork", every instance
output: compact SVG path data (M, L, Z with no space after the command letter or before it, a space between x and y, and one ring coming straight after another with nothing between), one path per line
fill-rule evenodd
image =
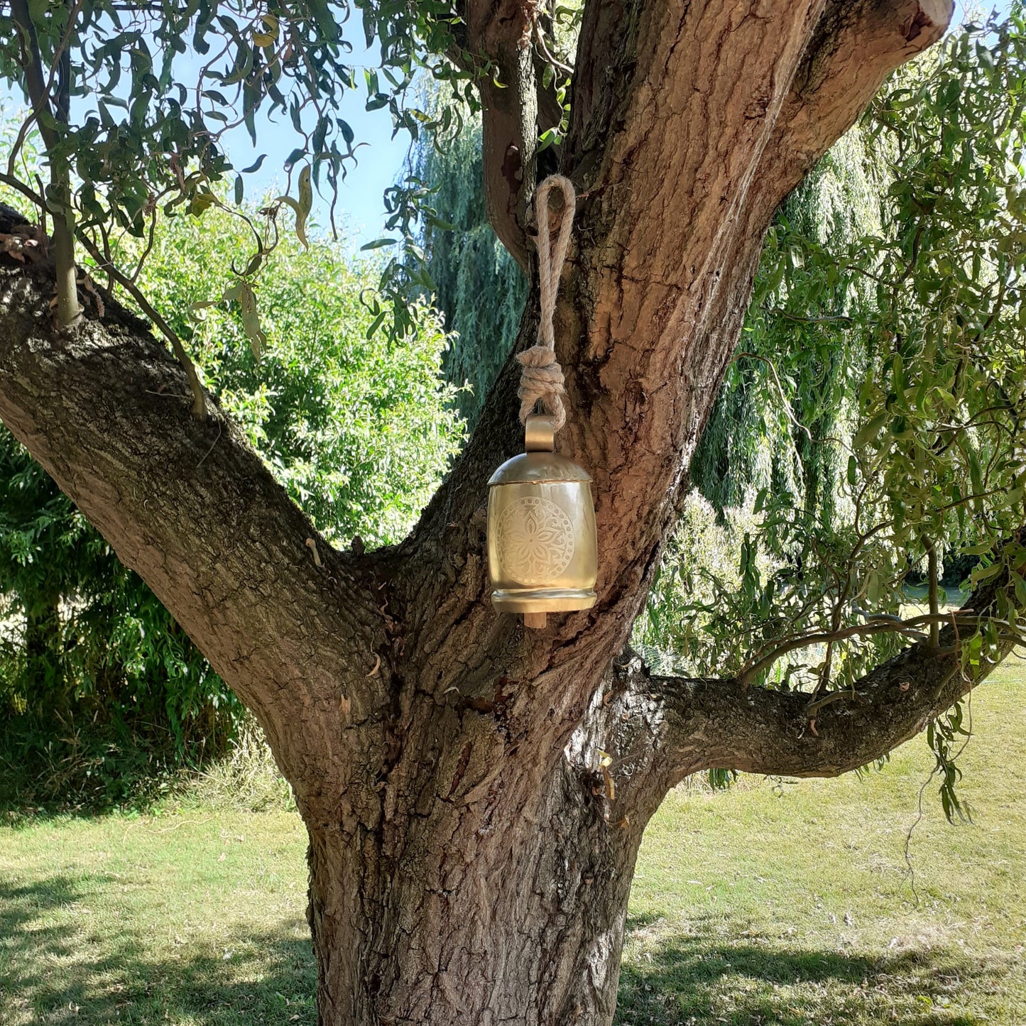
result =
M560 758L540 776L311 828L320 1023L611 1022L640 825L609 821L599 774Z

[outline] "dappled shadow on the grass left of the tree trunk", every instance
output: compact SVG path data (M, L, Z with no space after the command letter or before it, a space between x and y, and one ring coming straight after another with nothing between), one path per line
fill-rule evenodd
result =
M249 935L238 952L222 954L173 947L168 938L169 956L155 958L152 939L144 944L127 931L96 937L87 922L83 929L87 914L70 916L117 883L105 875L0 880L0 1023L317 1021L308 940Z

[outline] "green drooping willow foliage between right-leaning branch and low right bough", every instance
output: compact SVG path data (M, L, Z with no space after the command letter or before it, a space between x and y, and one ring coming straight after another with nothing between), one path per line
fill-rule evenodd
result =
M703 565L685 524L643 641L699 672L823 693L907 643L875 631L945 559L968 560L966 584L1009 567L1026 597L1024 97L1021 14L968 25L897 75L785 204L745 326L753 355L695 464L721 515L746 509L741 558ZM970 664L1018 631L1012 598L999 605ZM791 647L812 633L830 640Z

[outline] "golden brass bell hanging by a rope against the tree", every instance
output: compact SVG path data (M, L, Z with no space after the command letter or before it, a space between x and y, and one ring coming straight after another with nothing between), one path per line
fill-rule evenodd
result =
M591 478L554 452L552 417L531 415L524 448L488 481L488 573L500 613L544 627L547 613L595 602L598 546Z

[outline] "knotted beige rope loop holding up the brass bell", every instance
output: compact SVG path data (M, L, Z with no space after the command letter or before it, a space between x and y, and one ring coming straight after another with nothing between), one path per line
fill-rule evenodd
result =
M555 246L549 234L549 193L559 189L563 194L563 220L559 225ZM556 361L556 338L553 318L556 312L556 292L559 290L559 275L566 260L574 227L574 210L577 196L569 179L561 174L551 174L535 194L535 215L538 219L538 272L542 286L542 319L538 326L538 343L517 354L520 366L520 423L526 424L535 411L535 404L541 402L552 413L553 428L558 431L566 423L563 408L563 369Z

